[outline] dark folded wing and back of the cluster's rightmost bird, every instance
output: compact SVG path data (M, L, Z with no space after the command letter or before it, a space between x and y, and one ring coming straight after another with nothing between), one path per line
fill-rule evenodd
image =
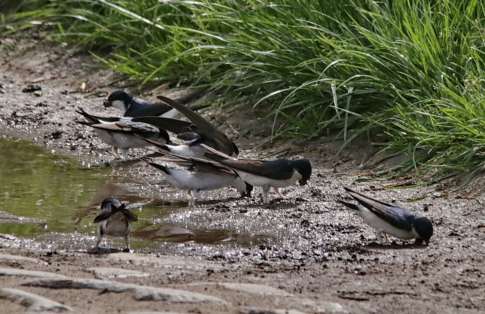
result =
M245 173L259 175L273 180L290 179L293 175L293 167L289 160L254 160L254 159L227 159L226 157L204 153L205 157L215 160L227 167Z

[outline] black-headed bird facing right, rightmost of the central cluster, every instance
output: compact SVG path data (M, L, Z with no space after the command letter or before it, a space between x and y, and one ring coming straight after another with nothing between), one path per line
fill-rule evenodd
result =
M284 199L280 188L289 187L296 181L300 183L300 186L304 186L311 175L311 164L305 157L293 156L277 160L233 158L211 147L203 146L211 151L211 153L205 153L205 157L234 169L242 180L250 185L262 187L264 204L268 203L270 188L273 188L276 194Z

